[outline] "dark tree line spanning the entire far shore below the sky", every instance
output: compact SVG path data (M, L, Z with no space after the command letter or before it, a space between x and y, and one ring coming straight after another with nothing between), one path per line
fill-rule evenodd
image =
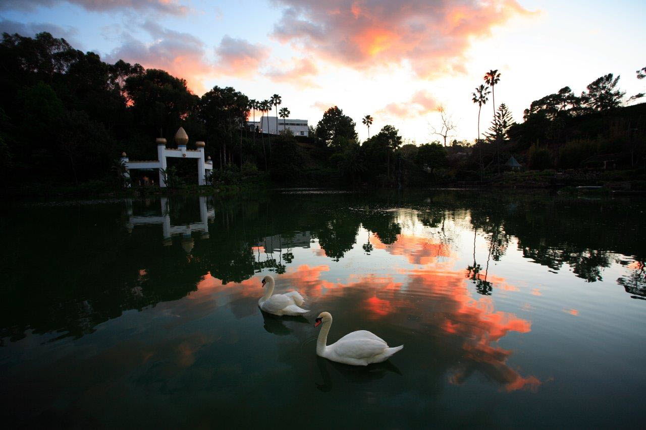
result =
M641 75L643 69L637 77ZM370 115L362 118L370 137L361 143L355 121L337 106L310 127L309 138L292 136L286 127L279 135L268 135L247 127L247 121L257 114L262 121L274 109L287 118L289 109L278 112L278 94L261 101L216 86L198 97L184 79L163 70L121 60L105 63L48 33L34 38L3 34L0 175L10 187L89 181L119 187L121 152L131 159L155 159L154 139L163 137L172 145L180 126L191 142L206 142L216 167L212 183L260 178L263 171L288 185L403 187L482 180L499 173L512 155L526 167L543 169L587 167L590 157L620 154L615 158L634 168L645 155L645 109L621 107L625 93L618 80L612 74L601 76L580 96L563 87L533 101L522 123L514 122L505 103L494 103L491 125L481 134L482 107L489 96L494 101L494 87L501 85L501 74L490 70L486 85L473 94L479 107L475 144L449 142L455 124L444 110L442 127L433 129L441 143L404 145L391 125L370 136ZM183 169L187 178L193 177L187 163L176 167L178 174Z

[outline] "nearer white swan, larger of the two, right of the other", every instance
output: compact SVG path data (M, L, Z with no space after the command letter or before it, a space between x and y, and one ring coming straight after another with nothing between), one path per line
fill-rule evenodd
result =
M357 366L385 362L392 354L404 347L404 345L399 345L390 348L383 339L366 330L353 331L337 342L326 345L329 327L332 325L332 316L329 312L321 312L314 327L318 327L321 323L323 323L323 328L318 333L317 355L333 362Z

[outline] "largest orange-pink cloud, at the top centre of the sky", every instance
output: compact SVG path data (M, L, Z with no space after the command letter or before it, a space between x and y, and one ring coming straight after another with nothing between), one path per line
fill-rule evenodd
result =
M278 0L273 36L359 70L408 61L420 77L464 72L464 52L530 12L516 0Z

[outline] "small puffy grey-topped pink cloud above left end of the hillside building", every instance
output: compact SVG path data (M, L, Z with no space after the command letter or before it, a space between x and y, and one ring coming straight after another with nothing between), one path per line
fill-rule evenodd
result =
M216 70L222 74L250 76L256 73L262 63L269 57L266 46L249 43L244 39L224 36L220 45L215 48Z

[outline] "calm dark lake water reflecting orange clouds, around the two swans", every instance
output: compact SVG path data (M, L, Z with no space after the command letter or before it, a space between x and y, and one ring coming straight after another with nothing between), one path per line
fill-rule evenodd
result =
M646 201L500 191L14 203L1 416L47 427L640 427ZM260 280L306 296L264 315ZM315 354L370 330L388 362Z

